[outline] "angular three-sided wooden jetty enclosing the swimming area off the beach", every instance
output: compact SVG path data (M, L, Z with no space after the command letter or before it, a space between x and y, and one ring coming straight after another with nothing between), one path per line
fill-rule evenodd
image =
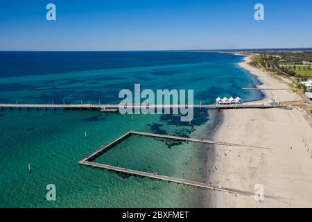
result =
M118 144L119 142L123 141L124 139L130 137L131 135L144 135L148 137L160 137L160 138L166 138L166 139L178 139L182 141L187 141L187 142L200 142L204 144L217 144L217 145L224 145L224 146L245 146L245 145L239 145L239 144L229 144L229 143L221 143L221 142L213 142L209 140L203 140L203 139L193 139L193 138L187 138L187 137L175 137L175 136L169 136L169 135L157 135L153 133L144 133L144 132L137 132L137 131L129 131L128 133L125 133L121 137L115 139L113 142L110 142L110 144L107 144L106 146L102 146L98 151L95 151L91 155L85 157L83 160L80 160L78 163L89 166L89 167L96 167L99 169L108 169L112 171L117 171L117 172L122 172L122 173L127 173L135 176L143 176L147 178L154 178L158 180L166 180L168 182L177 182L178 184L183 184L183 185L189 185L193 187L201 187L205 189L211 189L214 191L223 191L227 192L230 194L239 194L239 195L245 195L245 196L254 196L254 192L251 191L243 191L239 189L231 189L228 187L221 187L221 186L214 186L211 184L208 184L207 182L197 182L193 180L185 180L182 178L173 178L170 176L163 176L163 175L158 175L157 173L149 173L149 172L144 172L144 171L137 171L133 169L126 169L122 167L114 167L111 165L107 164L100 164L96 162L92 162L96 157L107 151L108 149L112 148L114 145ZM277 198L275 196L266 196L268 198Z

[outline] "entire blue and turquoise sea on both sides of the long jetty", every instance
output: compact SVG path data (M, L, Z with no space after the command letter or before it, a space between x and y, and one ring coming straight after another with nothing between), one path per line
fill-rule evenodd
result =
M202 103L213 103L217 96L241 96L245 101L262 96L257 91L241 90L258 83L236 66L241 56L141 53L93 55L94 64L79 53L72 58L76 63L70 56L65 60L55 55L62 58L53 61L63 72L60 68L46 68L53 57L49 53L40 55L44 62L36 63L36 56L28 56L27 64L31 65L25 69L14 64L25 55L6 57L1 53L0 103L116 103L119 90L133 90L135 83L143 89L194 89L196 101ZM8 59L13 61L12 72ZM114 65L110 66L110 62ZM202 137L198 129L206 124L206 134L213 133L218 112L194 115L190 126L171 114L136 114L132 121L131 115L97 111L3 110L0 207L203 207L202 189L78 166L78 160L129 130ZM134 136L95 161L205 181L207 148ZM56 186L56 201L46 200L48 184Z

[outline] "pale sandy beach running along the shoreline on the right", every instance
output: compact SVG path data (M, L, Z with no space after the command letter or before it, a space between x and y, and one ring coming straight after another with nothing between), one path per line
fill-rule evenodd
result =
M248 65L249 60L246 57L239 66L259 78L263 83L259 88L288 87ZM261 102L300 100L300 96L290 89L263 93L266 98ZM312 207L312 120L306 120L309 117L304 110L275 108L222 112L223 123L214 140L269 149L216 146L216 150L209 153L214 155L215 162L214 166L208 163L208 169L216 167L207 172L209 182L246 191L254 191L254 185L261 184L265 195L277 198L256 201L253 196L212 191L212 207Z

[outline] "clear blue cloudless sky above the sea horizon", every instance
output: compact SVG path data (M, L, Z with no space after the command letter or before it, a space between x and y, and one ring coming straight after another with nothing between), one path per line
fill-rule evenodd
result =
M311 0L0 0L0 50L312 46ZM46 21L55 3L57 21ZM255 3L265 21L254 20Z

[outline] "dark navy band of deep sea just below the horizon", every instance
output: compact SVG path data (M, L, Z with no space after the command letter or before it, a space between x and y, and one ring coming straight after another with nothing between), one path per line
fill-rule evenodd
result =
M217 62L222 58L188 51L0 51L0 76Z

